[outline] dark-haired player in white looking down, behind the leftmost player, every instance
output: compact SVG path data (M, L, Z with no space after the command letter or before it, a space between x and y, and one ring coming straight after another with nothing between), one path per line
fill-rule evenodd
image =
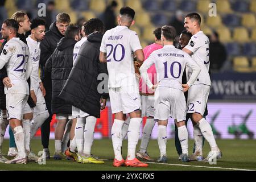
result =
M43 19L35 18L31 22L31 35L26 39L32 63L30 92L36 104L36 106L32 108L33 120L31 122L30 139L34 137L36 131L49 117L46 101L44 100L46 90L39 77L40 41L44 39L45 31L46 22ZM28 159L29 158L30 154L28 154Z

